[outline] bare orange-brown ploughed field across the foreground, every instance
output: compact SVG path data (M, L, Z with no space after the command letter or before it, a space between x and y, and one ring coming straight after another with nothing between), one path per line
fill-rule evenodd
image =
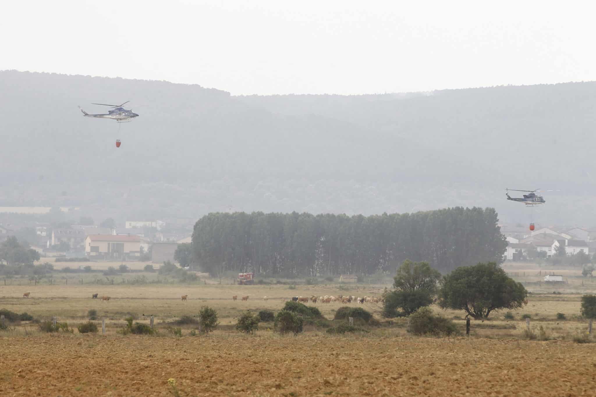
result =
M594 396L596 344L301 335L0 338L0 395Z

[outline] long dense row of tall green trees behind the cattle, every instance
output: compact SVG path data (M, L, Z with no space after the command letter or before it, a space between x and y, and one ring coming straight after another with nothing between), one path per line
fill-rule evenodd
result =
M504 236L493 208L414 214L211 213L194 226L194 260L211 274L269 276L395 273L406 260L443 273L502 262Z

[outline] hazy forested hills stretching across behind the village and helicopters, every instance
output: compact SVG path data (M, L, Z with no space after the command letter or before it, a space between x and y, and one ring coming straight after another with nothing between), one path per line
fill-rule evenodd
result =
M595 87L235 97L198 85L0 71L0 204L77 205L119 220L462 205L526 223L504 188L540 187L561 192L545 197L536 223L591 226ZM122 125L77 109L127 100L140 116Z

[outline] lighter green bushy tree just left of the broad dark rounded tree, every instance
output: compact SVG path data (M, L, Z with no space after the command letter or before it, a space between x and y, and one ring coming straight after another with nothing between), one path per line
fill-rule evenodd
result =
M440 277L439 271L427 262L403 261L393 279L395 290L384 294L383 315L410 315L418 308L430 305Z

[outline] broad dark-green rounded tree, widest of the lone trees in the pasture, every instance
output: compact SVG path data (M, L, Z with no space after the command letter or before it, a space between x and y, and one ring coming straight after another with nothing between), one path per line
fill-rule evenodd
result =
M462 266L443 276L439 304L465 310L473 318L486 318L493 310L517 309L527 304L522 283L507 276L493 262Z

